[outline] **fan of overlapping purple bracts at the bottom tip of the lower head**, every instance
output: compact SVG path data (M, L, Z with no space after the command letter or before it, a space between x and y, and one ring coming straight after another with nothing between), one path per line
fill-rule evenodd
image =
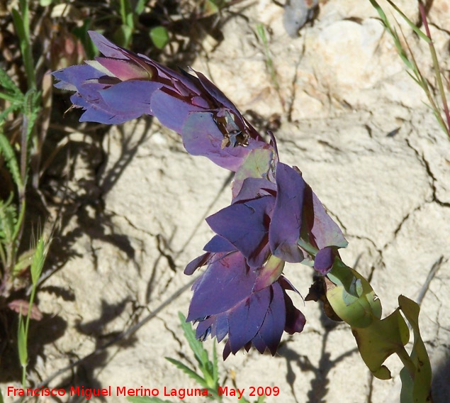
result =
M210 335L218 341L228 335L223 357L254 346L276 353L283 331L303 330L305 318L293 307L283 277L269 287L255 290L257 272L250 269L239 252L211 259L206 272L193 285L187 321L198 321L196 336Z

